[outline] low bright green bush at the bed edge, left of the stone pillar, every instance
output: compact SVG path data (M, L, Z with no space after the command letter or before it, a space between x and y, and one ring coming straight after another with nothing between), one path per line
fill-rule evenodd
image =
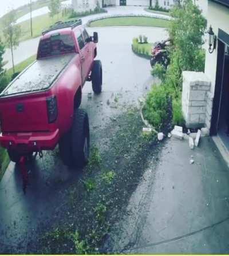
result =
M144 117L159 129L168 118L168 93L164 85L153 86L147 94Z

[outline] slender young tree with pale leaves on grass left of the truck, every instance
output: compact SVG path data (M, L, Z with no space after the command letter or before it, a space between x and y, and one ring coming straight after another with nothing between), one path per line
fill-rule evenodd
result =
M3 34L5 37L5 44L11 50L13 72L14 69L14 54L13 49L16 49L19 44L19 36L21 35L21 27L16 25L16 15L15 10L11 10L8 15L6 15L3 21Z

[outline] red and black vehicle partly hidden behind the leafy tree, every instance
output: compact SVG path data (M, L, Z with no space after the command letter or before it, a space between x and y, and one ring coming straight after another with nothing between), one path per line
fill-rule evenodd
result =
M169 57L166 46L169 44L170 40L165 40L161 42L156 42L151 50L151 66L158 63L163 65L165 68L169 65Z

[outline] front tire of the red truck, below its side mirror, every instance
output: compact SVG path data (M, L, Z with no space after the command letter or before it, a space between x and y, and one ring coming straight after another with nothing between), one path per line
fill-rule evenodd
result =
M98 94L102 91L102 64L101 61L96 60L93 62L92 67L92 89L93 92Z

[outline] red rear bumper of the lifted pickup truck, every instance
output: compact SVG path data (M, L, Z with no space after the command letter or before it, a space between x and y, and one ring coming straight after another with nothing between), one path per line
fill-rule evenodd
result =
M1 133L0 144L19 153L52 150L60 139L59 129L54 132Z

